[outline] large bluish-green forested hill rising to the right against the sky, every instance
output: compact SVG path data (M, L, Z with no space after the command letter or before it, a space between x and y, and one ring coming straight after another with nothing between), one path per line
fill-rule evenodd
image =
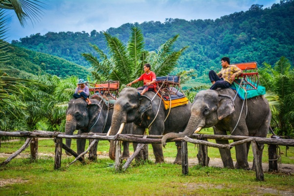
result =
M198 75L219 69L220 58L231 62L257 61L275 63L281 56L294 62L294 0L282 0L271 7L252 5L245 12L235 12L216 20L167 19L164 23L124 24L107 30L127 42L130 26L137 25L144 34L145 48L155 50L166 40L180 34L175 48L189 46L179 60L180 68L194 68ZM89 66L81 53L92 52L89 43L106 50L102 32L48 32L13 41L26 49L49 53L83 66Z

